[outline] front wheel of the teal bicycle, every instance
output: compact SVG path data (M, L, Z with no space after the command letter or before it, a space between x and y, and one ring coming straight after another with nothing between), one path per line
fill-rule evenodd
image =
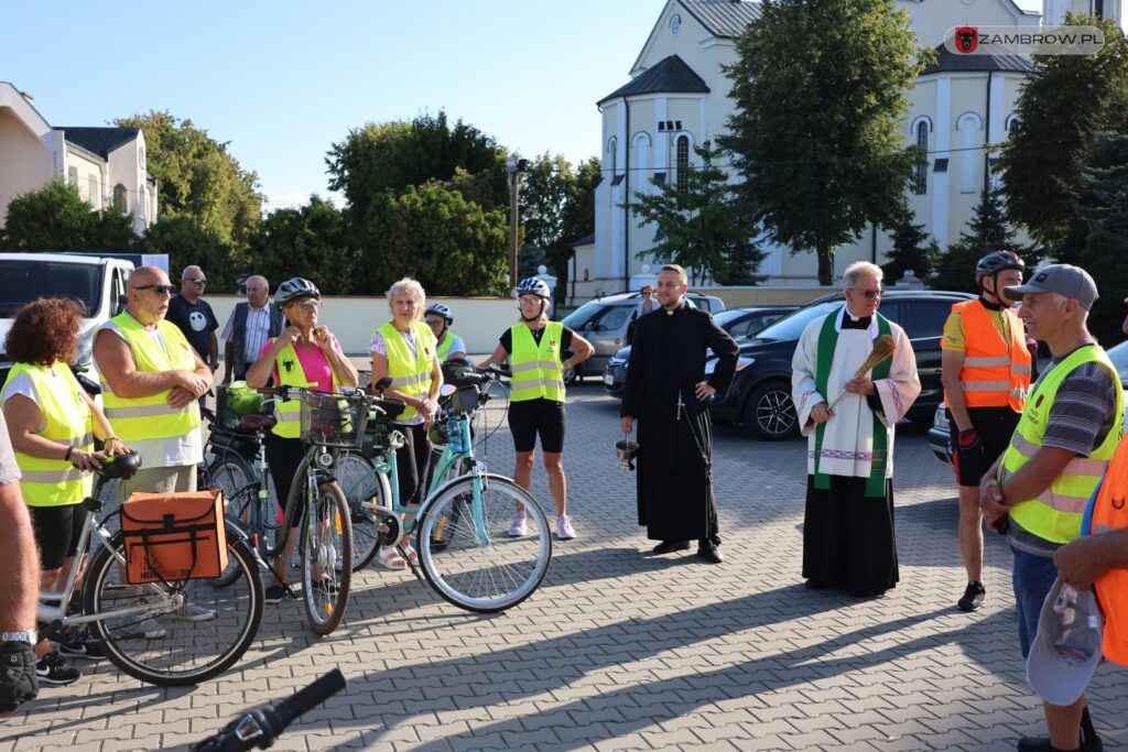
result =
M527 534L513 538L510 523L519 505L526 511ZM450 528L447 546L437 549L431 541L456 511L461 520ZM416 540L420 563L447 601L467 611L502 611L531 595L544 580L553 555L548 519L527 490L497 475L483 476L481 531L477 511L473 478L456 481L426 504Z

